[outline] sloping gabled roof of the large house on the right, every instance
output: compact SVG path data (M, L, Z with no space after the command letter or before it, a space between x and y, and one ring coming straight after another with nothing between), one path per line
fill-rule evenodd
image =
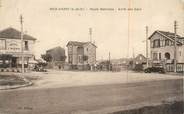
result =
M155 31L148 39L151 39L151 37L152 37L154 34L156 34L156 33L158 33L158 34L160 34L160 35L162 35L162 36L164 36L164 37L166 37L166 38L168 38L168 39L174 41L175 33L166 32L166 31L160 31L160 30ZM181 37L181 36L179 36L179 35L176 35L176 37L177 37L178 39L184 39L184 37ZM178 42L178 44L182 44L182 42L180 42L180 41L177 41L177 42Z

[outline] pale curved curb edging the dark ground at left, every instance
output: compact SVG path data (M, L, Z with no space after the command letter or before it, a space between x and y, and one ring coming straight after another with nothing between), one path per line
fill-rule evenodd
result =
M26 83L26 84L24 84L24 85L3 86L3 87L0 86L0 90L17 89L17 88L27 87L27 86L31 86L31 85L33 85L32 82L28 82L28 83Z

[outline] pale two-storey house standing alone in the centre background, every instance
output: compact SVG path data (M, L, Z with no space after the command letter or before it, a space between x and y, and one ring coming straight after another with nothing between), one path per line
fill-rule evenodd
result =
M96 48L97 46L91 42L69 41L68 63L70 65L90 65L96 64Z

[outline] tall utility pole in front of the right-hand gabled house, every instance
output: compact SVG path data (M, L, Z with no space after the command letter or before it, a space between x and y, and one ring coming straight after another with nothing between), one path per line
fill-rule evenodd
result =
M174 21L174 72L177 70L177 21Z

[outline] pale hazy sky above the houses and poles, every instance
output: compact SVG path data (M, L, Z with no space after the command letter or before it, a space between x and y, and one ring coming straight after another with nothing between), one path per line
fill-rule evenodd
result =
M129 7L137 10L117 10ZM100 8L114 10L94 10ZM56 46L67 52L68 41L90 41L89 28L97 59L107 59L109 52L111 58L145 55L145 26L149 36L155 30L173 32L176 20L184 36L184 0L0 0L0 30L20 30L21 14L24 31L37 38L37 58Z

